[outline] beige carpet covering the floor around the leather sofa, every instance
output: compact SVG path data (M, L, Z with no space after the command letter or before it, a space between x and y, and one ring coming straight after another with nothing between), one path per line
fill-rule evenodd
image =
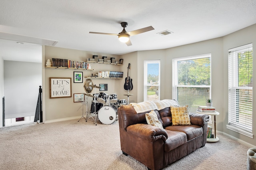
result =
M223 135L164 170L246 170L249 147ZM1 170L147 170L120 150L118 121L85 119L0 128Z

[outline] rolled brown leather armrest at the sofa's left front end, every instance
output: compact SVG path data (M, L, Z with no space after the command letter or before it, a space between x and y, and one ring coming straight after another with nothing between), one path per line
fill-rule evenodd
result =
M166 139L168 138L166 130L146 124L130 125L127 127L127 132L152 142L158 139L166 141Z

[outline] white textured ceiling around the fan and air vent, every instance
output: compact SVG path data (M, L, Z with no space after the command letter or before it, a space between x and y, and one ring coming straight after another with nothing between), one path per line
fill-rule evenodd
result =
M130 37L131 46L119 42L118 36L89 34L118 34L120 22L128 22L127 32L147 26L155 30ZM0 6L0 32L118 55L218 38L253 24L256 0L1 0ZM173 34L157 34L165 30ZM5 60L40 62L41 49L0 40Z

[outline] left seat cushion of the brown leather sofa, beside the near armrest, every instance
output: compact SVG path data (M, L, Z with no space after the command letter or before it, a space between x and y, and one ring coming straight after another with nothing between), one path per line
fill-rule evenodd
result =
M178 132L173 130L166 130L168 138L164 143L164 151L169 152L177 148L178 146L187 142L187 136L184 132Z

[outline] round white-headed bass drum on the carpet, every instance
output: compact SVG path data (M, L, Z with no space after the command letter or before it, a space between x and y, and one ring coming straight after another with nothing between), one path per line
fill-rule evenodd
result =
M116 121L116 111L110 106L104 106L98 112L98 119L101 123L110 125Z

